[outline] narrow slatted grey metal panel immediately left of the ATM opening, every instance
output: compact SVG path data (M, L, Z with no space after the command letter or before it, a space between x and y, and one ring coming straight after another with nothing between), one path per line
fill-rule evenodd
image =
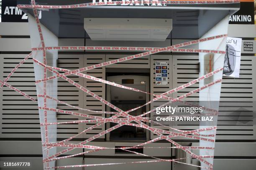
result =
M105 62L105 54L86 54L84 55L84 66L90 66L98 63ZM95 68L93 70L88 70L84 72L85 74L92 75L94 77L106 80L106 73L105 73L105 67ZM93 80L85 79L84 78L84 87L86 87L88 90L94 92L96 95L102 97L105 99L105 84L101 82L96 82ZM95 99L91 95L84 92L84 108L90 109L90 110L97 110L97 111L105 111L105 104L100 102L99 100ZM96 112L87 112L84 111L84 113L89 115L95 115L100 117L105 117L104 114L96 113ZM84 123L84 129L90 128L91 126L95 125L95 123ZM96 135L98 133L101 133L105 130L105 125L98 126L97 128L94 128L93 130L90 130L86 133L84 133L84 138L90 138L93 135ZM105 135L102 135L100 138L105 138Z

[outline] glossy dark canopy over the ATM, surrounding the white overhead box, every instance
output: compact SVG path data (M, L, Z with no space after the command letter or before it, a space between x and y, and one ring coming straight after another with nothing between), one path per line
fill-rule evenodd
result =
M89 0L36 0L37 5L71 5ZM18 4L31 4L31 0L17 0ZM75 9L41 10L40 22L57 37L84 38L84 18L169 18L172 31L167 38L197 39L225 16L239 10L240 4L200 4L167 6L93 6ZM23 9L33 16L32 9Z

